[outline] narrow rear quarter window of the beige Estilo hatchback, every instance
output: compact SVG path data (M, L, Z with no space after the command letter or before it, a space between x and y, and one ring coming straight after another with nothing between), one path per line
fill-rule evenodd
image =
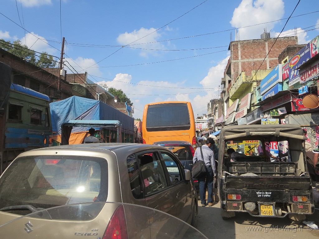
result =
M135 154L127 158L127 172L129 174L130 187L134 198L143 198L143 185Z

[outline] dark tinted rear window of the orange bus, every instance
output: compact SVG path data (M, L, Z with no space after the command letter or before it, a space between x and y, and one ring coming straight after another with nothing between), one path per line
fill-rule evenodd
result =
M190 129L187 104L171 103L150 105L146 115L147 131L169 131Z

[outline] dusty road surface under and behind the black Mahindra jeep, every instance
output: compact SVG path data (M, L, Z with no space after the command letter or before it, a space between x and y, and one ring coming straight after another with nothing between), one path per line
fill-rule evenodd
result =
M217 192L215 191L217 195ZM247 213L237 213L236 217L223 220L220 216L219 202L212 207L200 206L198 202L197 229L208 238L216 239L318 239L319 230L308 228L300 223L292 224L289 218L260 218ZM319 206L316 205L318 208ZM319 226L319 210L307 217Z

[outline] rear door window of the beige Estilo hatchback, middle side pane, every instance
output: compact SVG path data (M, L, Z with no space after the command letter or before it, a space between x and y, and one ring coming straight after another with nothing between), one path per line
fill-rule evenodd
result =
M160 191L168 186L163 165L155 155L155 153L151 153L138 156L145 195Z

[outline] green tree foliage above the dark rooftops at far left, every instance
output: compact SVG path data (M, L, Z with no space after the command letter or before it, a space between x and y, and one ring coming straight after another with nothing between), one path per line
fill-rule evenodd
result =
M53 57L46 52L42 52L40 56L36 56L36 53L29 49L27 45L22 44L20 40L15 40L12 43L10 41L0 40L0 48L14 54L21 59L41 67L41 68L54 68L56 62L53 61Z

